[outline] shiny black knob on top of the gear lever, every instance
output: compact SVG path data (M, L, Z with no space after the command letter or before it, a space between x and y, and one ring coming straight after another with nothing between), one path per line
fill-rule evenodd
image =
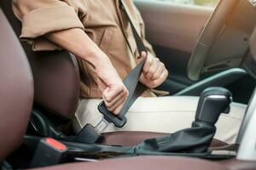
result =
M214 125L221 113L230 112L232 94L226 88L207 88L201 93L195 121Z

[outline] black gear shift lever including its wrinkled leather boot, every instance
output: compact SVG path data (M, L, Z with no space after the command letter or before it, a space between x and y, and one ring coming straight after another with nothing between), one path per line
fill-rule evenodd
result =
M216 132L215 123L222 112L229 112L231 93L225 88L207 88L201 93L195 122L190 128L138 144L136 153L145 151L207 153Z

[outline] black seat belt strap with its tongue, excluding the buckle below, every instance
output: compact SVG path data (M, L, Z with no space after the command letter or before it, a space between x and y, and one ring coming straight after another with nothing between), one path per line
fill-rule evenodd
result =
M137 30L135 26L132 23L131 17L128 14L128 10L125 7L125 3L123 0L119 0L121 8L125 12L125 15L128 19L128 21L131 24L131 30L133 33L133 36L135 37L135 41L137 44L137 49L139 54L141 55L142 52L147 53L147 49L143 43L142 38L139 36L137 33ZM126 119L125 119L125 114L126 112L130 109L131 105L135 102L135 100L140 96L140 94L143 92L143 90L146 89L142 84L139 82L139 77L141 76L142 70L143 70L143 65L146 61L146 58L143 59L129 74L127 77L124 79L124 84L127 90L129 91L128 98L125 101L125 104L122 108L122 110L119 112L119 116L113 116L113 113L108 111L106 105L102 101L102 103L98 106L99 111L103 114L104 118L108 122L113 122L116 127L123 127L125 125Z

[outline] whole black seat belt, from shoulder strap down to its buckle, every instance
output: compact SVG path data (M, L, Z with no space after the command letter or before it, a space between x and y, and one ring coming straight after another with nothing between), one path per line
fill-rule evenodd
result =
M137 33L135 26L132 23L131 17L128 14L128 10L125 7L125 3L123 0L119 0L120 7L124 11L125 16L131 24L131 30L133 36L135 37L135 41L137 44L137 49L139 54L142 52L147 53L147 49L143 43L143 40ZM108 111L108 108L102 101L98 105L98 110L102 113L102 120L93 127L91 124L86 124L82 130L76 135L75 141L84 142L84 143L96 143L101 142L103 139L102 132L108 127L110 123L113 123L115 127L123 127L127 122L125 114L130 109L131 105L135 102L135 100L143 94L143 92L147 89L142 83L139 82L139 78L143 71L143 65L145 64L147 58L143 59L124 79L124 85L127 88L129 95L125 101L125 104L118 116L114 116L111 111Z

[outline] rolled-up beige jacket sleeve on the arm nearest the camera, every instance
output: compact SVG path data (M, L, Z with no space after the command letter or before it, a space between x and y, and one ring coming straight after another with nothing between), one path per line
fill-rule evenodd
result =
M60 49L44 35L71 28L84 29L78 13L86 15L86 5L76 1L79 3L74 6L68 0L13 0L14 13L22 23L21 40L30 43L33 50Z

